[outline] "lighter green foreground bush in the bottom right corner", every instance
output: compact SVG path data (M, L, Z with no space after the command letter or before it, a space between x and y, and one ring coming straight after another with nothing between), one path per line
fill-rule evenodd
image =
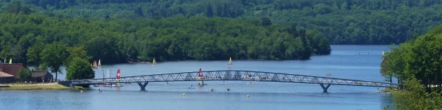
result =
M442 109L442 92L433 91L427 93L425 87L416 78L410 78L405 81L404 86L405 90L400 90L393 94L396 109Z

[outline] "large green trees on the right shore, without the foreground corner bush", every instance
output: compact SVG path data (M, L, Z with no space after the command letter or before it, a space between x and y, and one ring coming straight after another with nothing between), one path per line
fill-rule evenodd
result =
M429 88L442 86L442 25L436 26L419 38L392 46L385 54L385 72L401 80L416 78Z

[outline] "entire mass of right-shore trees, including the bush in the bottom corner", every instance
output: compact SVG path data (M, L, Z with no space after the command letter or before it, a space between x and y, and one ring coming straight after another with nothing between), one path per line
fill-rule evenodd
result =
M394 94L396 109L442 109L442 25L391 49L381 74L401 85Z

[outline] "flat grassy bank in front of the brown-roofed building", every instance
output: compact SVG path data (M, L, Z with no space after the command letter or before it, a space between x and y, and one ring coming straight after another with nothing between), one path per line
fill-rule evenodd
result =
M10 87L0 87L0 90L37 90L37 89L83 89L83 87L65 87L63 85L26 85L26 86L16 86L11 85Z

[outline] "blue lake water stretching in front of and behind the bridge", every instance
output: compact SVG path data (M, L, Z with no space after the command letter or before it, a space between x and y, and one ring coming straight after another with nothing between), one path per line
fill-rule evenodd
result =
M387 45L332 45L332 54L312 56L307 61L235 61L231 69L263 72L282 72L350 78L384 82L379 74L381 54ZM106 61L102 61L106 62ZM95 77L115 77L117 69L122 76L196 72L228 69L226 61L177 61L150 64L104 65L95 69ZM64 72L65 73L65 72ZM64 79L65 74L59 74ZM376 87L332 85L323 93L320 85L298 83L242 81L206 81L208 85L187 89L198 82L148 83L146 91L138 85L124 87L92 87L90 90L0 91L1 109L383 109L390 104L390 94L378 94ZM103 89L97 93L97 89ZM211 92L210 89L215 89ZM231 91L227 91L230 88ZM379 88L384 89L384 88ZM186 94L186 96L182 96ZM247 98L247 95L250 97Z

